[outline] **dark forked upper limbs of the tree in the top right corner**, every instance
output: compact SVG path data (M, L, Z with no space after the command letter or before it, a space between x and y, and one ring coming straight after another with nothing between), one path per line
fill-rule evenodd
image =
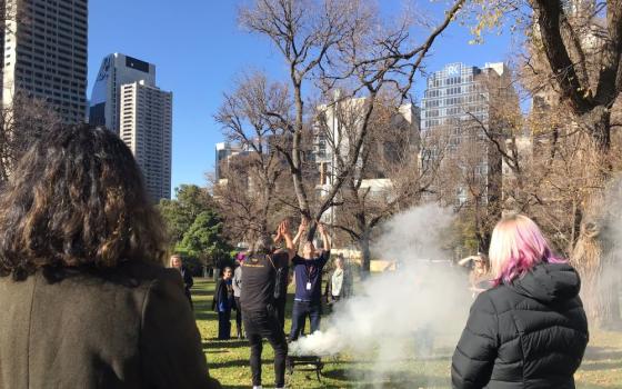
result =
M622 1L610 0L598 8L593 2L573 13L561 1L530 0L530 6L539 32L534 39L561 100L595 148L609 152L611 108L622 90Z

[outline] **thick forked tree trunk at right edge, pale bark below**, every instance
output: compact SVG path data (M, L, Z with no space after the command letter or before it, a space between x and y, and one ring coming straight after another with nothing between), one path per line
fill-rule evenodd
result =
M598 87L592 96L590 84L581 82L578 74L581 66L570 56L563 38L562 23L566 18L562 1L533 0L530 6L535 11L541 42L558 83L561 99L568 103L572 113L579 116L591 137L588 151L585 177L592 177L582 188L588 193L581 205L581 232L572 253L572 262L583 278L582 297L593 325L609 326L620 321L616 283L603 282L611 273L614 256L604 233L606 223L605 186L612 178L610 160L611 113L610 108L620 93L620 42L622 41L622 12L620 0L606 1L608 37L601 48L602 56L598 66ZM580 61L581 62L581 61ZM594 159L592 159L594 158ZM591 181L591 182L590 182ZM595 188L595 189L590 189Z

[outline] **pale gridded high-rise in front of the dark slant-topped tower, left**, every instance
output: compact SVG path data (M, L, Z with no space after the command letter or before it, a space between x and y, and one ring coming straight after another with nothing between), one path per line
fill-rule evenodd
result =
M132 150L153 202L171 197L172 92L146 81L121 86L120 137Z

